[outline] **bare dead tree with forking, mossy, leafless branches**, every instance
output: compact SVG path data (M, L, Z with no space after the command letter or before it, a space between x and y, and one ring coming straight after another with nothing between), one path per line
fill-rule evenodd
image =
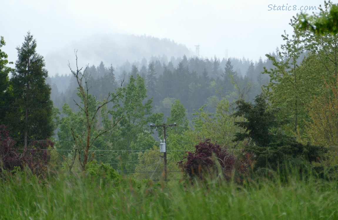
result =
M117 120L115 120L115 122L112 124L111 127L104 129L103 131L101 131L100 133L98 133L94 138L92 138L91 140L91 135L92 135L92 127L95 125L95 118L99 112L100 109L102 109L102 107L104 107L105 105L107 105L108 103L111 103L115 100L118 99L118 97L120 96L120 94L122 93L122 84L123 81L121 81L121 86L118 88L117 92L114 94L112 92L108 92L108 96L106 99L104 99L101 103L99 103L96 106L95 111L92 113L91 116L91 112L90 112L90 106L89 106L89 86L88 86L88 81L90 79L90 75L89 77L87 77L87 68L88 65L86 65L86 68L84 68L84 71L81 72L82 68L78 67L78 63L77 63L77 51L74 51L75 53L75 57L76 57L76 71L73 71L70 63L68 62L68 67L72 73L72 75L76 78L77 84L78 84L78 91L79 91L79 96L80 98L82 98L82 104L78 104L75 100L75 104L79 107L79 109L84 113L84 115L86 116L85 120L82 120L84 122L84 124L86 125L86 131L83 132L83 134L81 136L76 135L74 130L72 130L72 136L75 142L75 147L72 150L73 156L72 156L72 161L69 164L69 170L72 169L73 165L74 165L74 161L76 158L76 152L78 153L78 159L79 162L81 164L82 167L82 171L84 171L86 169L86 164L88 163L88 156L89 156L89 149L90 147L93 145L93 143L95 142L95 140L100 137L101 135L103 135L104 133L112 130L120 121L121 117L118 118ZM84 83L83 83L84 81ZM85 143L83 143L83 137L85 136L86 140ZM85 145L85 147L83 147ZM80 154L81 151L83 150L83 160L81 160Z

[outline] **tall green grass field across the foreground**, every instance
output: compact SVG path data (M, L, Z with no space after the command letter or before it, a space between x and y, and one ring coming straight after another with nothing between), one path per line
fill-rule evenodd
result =
M336 181L277 174L242 184L215 178L190 185L80 174L8 174L0 180L0 219L338 219Z

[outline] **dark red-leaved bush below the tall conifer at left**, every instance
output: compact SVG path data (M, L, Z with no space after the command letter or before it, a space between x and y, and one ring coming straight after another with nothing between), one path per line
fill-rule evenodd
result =
M27 148L20 150L9 136L6 126L0 125L0 163L2 169L12 170L15 166L27 165L35 174L46 170L50 156L47 148L54 147L52 141L33 141Z

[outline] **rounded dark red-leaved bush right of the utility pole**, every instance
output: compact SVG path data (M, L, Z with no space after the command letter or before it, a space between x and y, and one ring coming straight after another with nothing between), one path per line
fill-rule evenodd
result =
M195 152L187 152L188 156L184 157L186 161L180 161L177 164L183 168L184 172L190 177L198 176L204 179L206 176L212 176L220 167L226 180L230 180L232 173L247 173L248 163L241 159L236 159L226 148L219 144L211 143L210 139L195 145ZM219 165L216 164L216 161Z

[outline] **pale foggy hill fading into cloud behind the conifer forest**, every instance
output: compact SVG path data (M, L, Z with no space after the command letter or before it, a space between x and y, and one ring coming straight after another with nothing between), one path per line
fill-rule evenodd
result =
M92 35L79 37L76 42L71 42L58 51L45 56L46 68L49 75L55 73L69 74L68 60L75 67L74 49L78 50L78 62L80 66L86 64L100 63L119 66L126 60L131 63L141 61L143 58L149 60L152 56L166 55L167 57L190 57L193 53L182 44L173 40L159 39L152 36L135 36L125 34Z

